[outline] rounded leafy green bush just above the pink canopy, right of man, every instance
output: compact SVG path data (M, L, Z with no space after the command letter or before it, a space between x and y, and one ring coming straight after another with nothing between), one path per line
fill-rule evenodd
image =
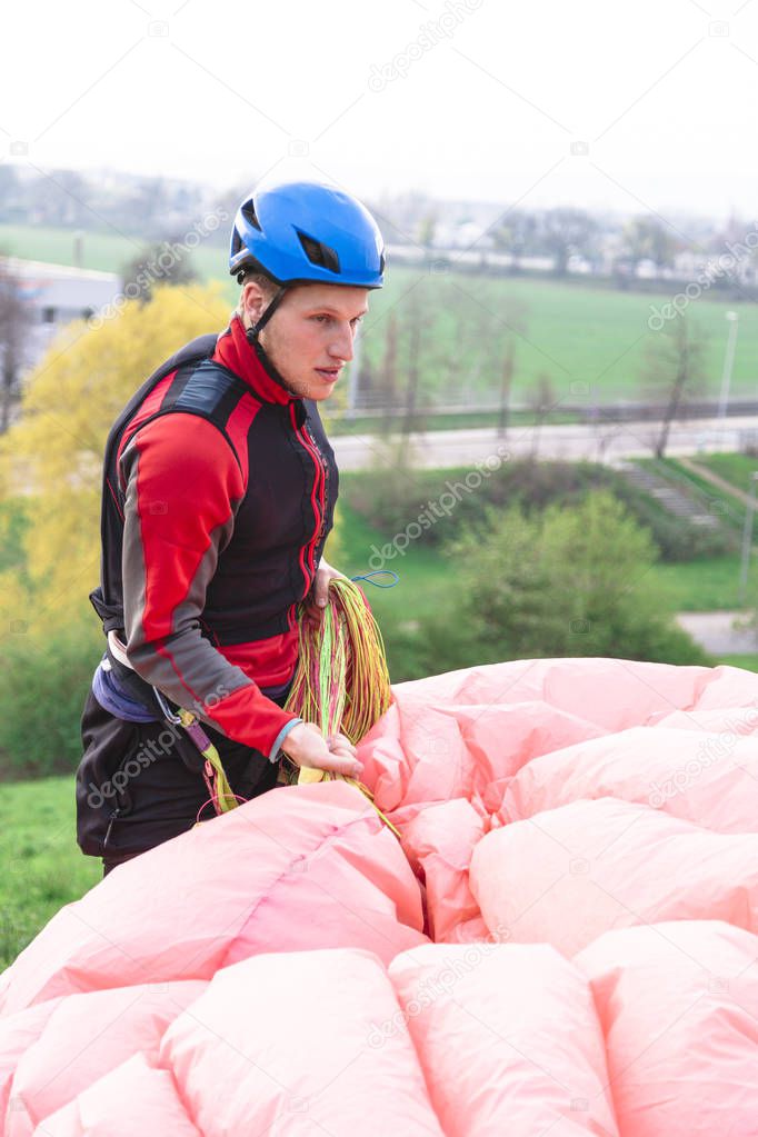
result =
M419 630L434 671L550 656L711 662L651 582L649 531L607 490L532 514L490 508L448 555L457 603Z

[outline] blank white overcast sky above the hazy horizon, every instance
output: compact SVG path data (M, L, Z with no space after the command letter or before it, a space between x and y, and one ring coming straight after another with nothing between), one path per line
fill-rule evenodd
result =
M1 18L3 161L758 215L758 0L42 0Z

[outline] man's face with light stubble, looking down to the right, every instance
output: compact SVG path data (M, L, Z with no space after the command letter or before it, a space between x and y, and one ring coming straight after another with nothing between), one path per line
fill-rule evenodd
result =
M256 314L255 285L249 285ZM247 291L247 289L245 289ZM293 395L322 401L336 387L344 364L352 359L358 322L368 312L368 289L341 284L300 284L288 290L260 333L260 345Z

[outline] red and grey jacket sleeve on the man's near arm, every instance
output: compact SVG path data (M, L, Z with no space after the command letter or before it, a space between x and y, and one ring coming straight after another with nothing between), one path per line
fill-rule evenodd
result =
M205 418L165 415L128 442L120 476L132 666L177 705L274 758L272 748L297 716L200 633L206 590L245 490L232 448Z

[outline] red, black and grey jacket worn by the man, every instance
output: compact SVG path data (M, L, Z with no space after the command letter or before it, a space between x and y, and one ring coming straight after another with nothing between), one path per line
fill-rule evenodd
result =
M234 316L140 388L106 448L101 584L148 683L274 758L294 719L267 698L297 662L338 497L316 405L292 396Z

